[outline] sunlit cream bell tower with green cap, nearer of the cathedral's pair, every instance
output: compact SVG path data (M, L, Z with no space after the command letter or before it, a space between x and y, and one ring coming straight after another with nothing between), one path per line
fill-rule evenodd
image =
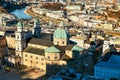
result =
M26 47L26 39L25 39L25 32L23 31L23 24L21 21L17 23L17 31L15 32L15 45L16 45L16 56L19 56L21 58L21 64L22 64L22 58L23 54L22 51Z

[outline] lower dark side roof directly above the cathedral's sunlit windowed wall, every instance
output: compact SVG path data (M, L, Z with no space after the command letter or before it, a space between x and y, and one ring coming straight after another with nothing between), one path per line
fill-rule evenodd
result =
M26 47L23 52L38 54L44 56L44 49L34 48L34 47Z

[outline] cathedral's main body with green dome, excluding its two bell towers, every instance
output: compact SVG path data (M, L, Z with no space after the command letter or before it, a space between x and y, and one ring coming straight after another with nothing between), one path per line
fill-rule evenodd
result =
M60 66L67 65L67 60L76 58L83 48L69 44L69 33L64 27L61 22L53 34L53 41L32 38L23 51L23 65L52 74Z

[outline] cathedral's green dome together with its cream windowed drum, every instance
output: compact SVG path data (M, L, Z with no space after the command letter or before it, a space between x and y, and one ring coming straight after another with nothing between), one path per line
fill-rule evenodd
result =
M66 46L69 41L69 33L65 29L65 23L60 22L59 27L54 31L53 44L59 46Z

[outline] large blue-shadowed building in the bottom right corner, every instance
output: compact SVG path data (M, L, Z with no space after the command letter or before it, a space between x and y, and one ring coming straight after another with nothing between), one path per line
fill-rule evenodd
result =
M100 61L94 67L94 76L98 78L120 79L120 56L112 55L108 61Z

